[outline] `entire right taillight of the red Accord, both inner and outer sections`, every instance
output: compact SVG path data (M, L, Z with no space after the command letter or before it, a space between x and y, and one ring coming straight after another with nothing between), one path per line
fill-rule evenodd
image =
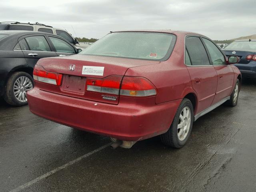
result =
M156 95L156 88L149 80L133 76L124 76L123 80L122 76L108 76L103 79L87 78L86 90L114 95L120 93L120 95L132 97Z

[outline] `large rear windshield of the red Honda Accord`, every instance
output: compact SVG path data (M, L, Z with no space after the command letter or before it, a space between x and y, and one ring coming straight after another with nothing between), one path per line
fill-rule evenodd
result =
M175 41L176 36L167 33L114 32L79 54L162 61L170 57Z

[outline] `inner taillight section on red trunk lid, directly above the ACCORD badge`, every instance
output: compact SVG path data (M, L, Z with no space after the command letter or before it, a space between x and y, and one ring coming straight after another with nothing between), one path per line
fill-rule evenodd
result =
M103 79L87 78L86 90L100 93L118 95L122 76L108 76Z

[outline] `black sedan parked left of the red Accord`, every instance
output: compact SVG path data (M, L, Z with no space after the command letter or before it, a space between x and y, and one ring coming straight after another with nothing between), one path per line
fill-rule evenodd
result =
M40 58L77 54L68 41L53 34L0 31L0 96L14 106L27 104L33 88L33 68Z

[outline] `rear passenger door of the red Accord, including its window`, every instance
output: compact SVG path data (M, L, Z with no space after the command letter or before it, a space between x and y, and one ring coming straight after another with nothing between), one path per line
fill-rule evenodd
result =
M210 107L217 88L217 73L200 36L186 36L185 64L198 95L197 114Z

